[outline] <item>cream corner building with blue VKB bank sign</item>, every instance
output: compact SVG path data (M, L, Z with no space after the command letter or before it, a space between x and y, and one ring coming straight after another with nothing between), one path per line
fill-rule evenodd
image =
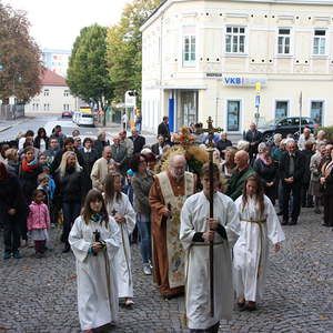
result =
M333 1L168 0L143 23L142 124L333 123ZM302 97L302 98L301 98Z

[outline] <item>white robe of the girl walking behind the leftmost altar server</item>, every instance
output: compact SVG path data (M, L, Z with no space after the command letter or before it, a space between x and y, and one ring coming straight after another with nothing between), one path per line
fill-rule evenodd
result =
M127 220L125 223L119 223L121 232L121 246L115 254L114 265L119 297L133 297L130 234L135 228L135 212L128 195L124 193L121 193L121 200L119 202L113 200L112 203L108 203L107 210L110 215L112 214L112 211L115 210Z

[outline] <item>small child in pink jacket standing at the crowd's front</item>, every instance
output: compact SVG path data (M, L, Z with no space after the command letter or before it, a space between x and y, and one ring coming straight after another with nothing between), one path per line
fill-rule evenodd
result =
M34 241L36 258L42 258L46 252L46 242L49 238L50 213L43 203L44 192L36 190L32 194L32 203L29 205L30 213L27 220L30 238Z

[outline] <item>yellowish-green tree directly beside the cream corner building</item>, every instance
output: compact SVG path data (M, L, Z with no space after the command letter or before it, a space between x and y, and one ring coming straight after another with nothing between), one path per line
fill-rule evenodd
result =
M127 90L141 90L142 34L140 27L163 0L133 0L120 23L108 29L108 67L114 98L123 101Z

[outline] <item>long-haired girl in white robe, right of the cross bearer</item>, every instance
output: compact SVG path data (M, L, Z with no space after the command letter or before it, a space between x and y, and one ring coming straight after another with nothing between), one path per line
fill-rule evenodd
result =
M240 238L233 249L234 287L240 310L256 310L266 279L269 241L278 252L284 241L276 212L264 195L259 175L250 175L235 205L241 220Z

